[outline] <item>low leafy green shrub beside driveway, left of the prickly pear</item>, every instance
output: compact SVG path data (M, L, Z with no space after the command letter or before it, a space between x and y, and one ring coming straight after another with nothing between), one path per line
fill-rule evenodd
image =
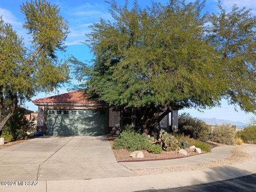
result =
M150 145L147 136L140 135L132 129L126 129L114 140L113 148L138 151L148 149Z

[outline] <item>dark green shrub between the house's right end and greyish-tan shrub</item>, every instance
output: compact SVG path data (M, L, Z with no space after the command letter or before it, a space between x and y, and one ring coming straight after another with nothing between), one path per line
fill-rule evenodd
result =
M179 132L194 139L207 140L211 128L204 121L193 118L188 113L179 115Z

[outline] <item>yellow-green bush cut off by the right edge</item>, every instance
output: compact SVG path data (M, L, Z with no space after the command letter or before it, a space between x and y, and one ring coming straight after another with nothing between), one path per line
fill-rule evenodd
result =
M237 137L241 137L241 139L244 141L244 143L247 144L256 144L256 126L251 125L242 131L238 131L236 133Z

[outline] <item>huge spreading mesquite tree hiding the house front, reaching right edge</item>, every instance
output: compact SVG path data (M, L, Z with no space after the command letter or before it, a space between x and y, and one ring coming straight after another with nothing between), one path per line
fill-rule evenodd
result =
M220 4L220 14L203 14L204 3L134 3L129 10L112 2L113 21L91 26L93 65L73 60L81 87L110 106L139 108L145 129L172 109L204 109L222 98L254 112L255 18ZM165 111L151 119L157 108Z

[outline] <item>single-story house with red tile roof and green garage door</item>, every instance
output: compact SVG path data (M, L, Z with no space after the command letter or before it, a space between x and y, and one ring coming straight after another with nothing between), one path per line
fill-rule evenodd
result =
M38 106L37 130L46 135L107 135L124 124L135 122L133 116L122 115L122 111L93 101L82 91L35 99L33 103ZM172 119L175 114L178 115L178 111L172 112ZM176 121L172 122L172 127L178 126ZM169 115L158 127L169 129Z

